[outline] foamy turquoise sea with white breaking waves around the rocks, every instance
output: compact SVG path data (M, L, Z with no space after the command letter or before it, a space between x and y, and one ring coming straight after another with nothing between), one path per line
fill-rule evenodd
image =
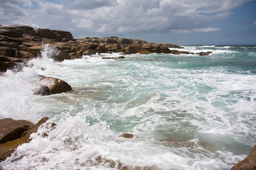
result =
M7 71L0 118L47 116L57 126L45 124L0 169L232 168L256 143L256 45L183 47L213 53L54 62L46 45L22 71ZM33 95L38 75L73 90Z

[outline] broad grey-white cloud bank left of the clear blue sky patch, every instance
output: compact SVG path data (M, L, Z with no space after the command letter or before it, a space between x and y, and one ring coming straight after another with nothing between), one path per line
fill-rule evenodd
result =
M39 25L73 35L119 32L210 32L210 23L250 0L0 0L1 24ZM34 2L34 3L33 3ZM33 4L38 5L36 10ZM26 7L25 7L26 6Z

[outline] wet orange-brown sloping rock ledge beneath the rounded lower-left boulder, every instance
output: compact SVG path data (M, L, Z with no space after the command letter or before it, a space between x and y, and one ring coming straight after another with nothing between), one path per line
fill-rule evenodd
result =
M32 133L36 133L38 131L38 128L40 125L42 125L44 122L48 120L48 117L42 118L37 124L32 124L30 128L27 131L24 131L23 137L14 139L13 141L0 143L0 162L11 156L15 149L22 145L23 143L28 143L31 141L30 135ZM24 120L18 120L18 121L24 121ZM1 126L2 127L2 126Z

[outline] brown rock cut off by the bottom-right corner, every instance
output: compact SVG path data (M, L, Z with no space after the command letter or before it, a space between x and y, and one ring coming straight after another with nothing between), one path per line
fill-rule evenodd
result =
M256 169L256 145L251 153L241 162L234 165L231 170L255 170Z

